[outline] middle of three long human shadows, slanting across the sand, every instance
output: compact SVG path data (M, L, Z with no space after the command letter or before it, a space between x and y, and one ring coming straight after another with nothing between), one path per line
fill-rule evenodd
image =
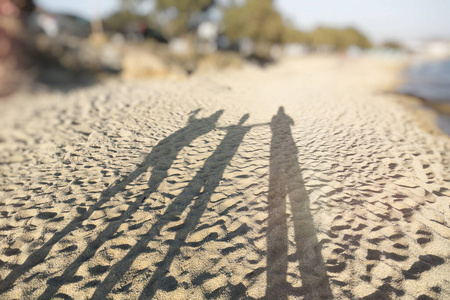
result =
M199 224L211 195L222 179L223 173L236 153L246 133L252 126L243 126L249 115L244 115L237 125L227 127L227 134L217 146L214 153L205 160L203 167L183 189L183 191L167 207L163 216L156 221L150 230L143 235L129 250L122 260L117 262L106 276L105 280L97 287L92 299L104 299L116 283L130 269L134 260L142 253L147 244L160 235L161 229L177 219L190 206L184 224L177 225L174 240L170 244L164 259L158 262L157 269L153 272L148 284L140 295L140 299L152 299L159 288L172 290L177 286L176 279L166 277L172 261L180 253L181 247L186 244L186 239Z

